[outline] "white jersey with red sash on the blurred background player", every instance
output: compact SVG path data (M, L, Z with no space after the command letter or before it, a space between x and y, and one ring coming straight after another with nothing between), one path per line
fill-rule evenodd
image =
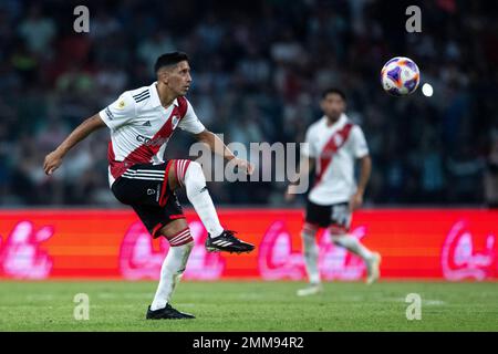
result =
M328 126L328 118L323 116L308 128L305 143L301 154L314 158L317 166L309 200L321 206L347 201L356 190L354 163L369 155L360 126L345 114Z

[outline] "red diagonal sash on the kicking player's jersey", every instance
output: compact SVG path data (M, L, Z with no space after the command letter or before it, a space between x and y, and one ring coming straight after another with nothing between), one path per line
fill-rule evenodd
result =
M183 119L187 113L187 101L185 97L178 97L178 107L174 107L172 114L167 118L166 123L160 127L160 129L152 137L151 143L144 143L134 149L128 156L124 158L123 162L116 162L114 156L113 143L108 142L107 158L111 166L111 174L114 178L120 177L124 174L126 169L135 164L147 164L151 163L151 158L157 154L160 146L160 142L165 142L173 133L173 117L178 116L178 119ZM156 142L154 144L154 142Z

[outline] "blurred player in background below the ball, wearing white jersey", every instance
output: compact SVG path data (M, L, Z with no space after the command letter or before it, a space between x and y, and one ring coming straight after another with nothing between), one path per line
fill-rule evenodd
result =
M301 150L300 176L315 167L315 181L308 195L304 226L301 231L304 261L310 284L298 295L311 295L322 291L318 268L319 249L317 233L329 228L334 244L360 256L366 264L370 284L378 278L381 256L371 252L354 236L349 235L352 211L363 204L363 194L370 178L372 162L360 126L345 115L345 95L336 88L323 93L321 108L324 113L305 135L305 148ZM360 162L357 186L354 164ZM290 185L286 199L295 196L295 185Z

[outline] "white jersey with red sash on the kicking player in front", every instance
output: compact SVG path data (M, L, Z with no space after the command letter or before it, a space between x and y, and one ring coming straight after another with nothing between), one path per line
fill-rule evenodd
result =
M111 186L132 165L164 163L166 145L177 126L193 134L205 129L187 98L180 96L169 107L163 107L156 84L126 91L98 113L111 129Z

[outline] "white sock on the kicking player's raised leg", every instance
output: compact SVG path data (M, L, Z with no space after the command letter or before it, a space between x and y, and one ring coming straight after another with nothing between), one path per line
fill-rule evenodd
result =
M224 228L219 223L218 215L206 187L206 177L204 177L203 168L198 163L190 162L185 171L183 183L188 200L196 209L210 237L220 236L224 232Z

